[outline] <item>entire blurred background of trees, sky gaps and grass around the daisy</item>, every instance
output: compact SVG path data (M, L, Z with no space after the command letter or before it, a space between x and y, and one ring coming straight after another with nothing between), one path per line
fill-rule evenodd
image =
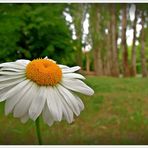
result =
M148 144L148 4L0 4L0 63L49 58L81 66L95 90L71 125L45 144ZM0 144L37 144L33 121L4 117Z

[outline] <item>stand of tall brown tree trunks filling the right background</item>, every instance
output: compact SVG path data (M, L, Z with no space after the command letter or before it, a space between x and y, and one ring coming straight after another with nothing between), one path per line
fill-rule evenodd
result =
M85 54L87 55L86 60L88 60L89 54L92 56L94 74L114 77L119 77L120 74L124 77L136 76L137 69L140 67L142 76L146 77L148 68L148 47L146 46L148 6L146 4L81 4L81 11L84 10L86 5L87 11L85 10L85 13L90 15L88 38L91 38L89 44L92 45L92 50ZM129 17L132 5L135 6L135 11L132 12L133 21ZM81 14L82 12L79 13L79 15ZM73 17L78 18L74 15ZM141 25L140 36L136 36L136 26L139 20ZM133 30L131 46L127 45L126 33L129 28ZM107 33L105 33L105 30L107 30ZM121 43L117 44L119 38ZM139 45L136 45L137 41ZM137 67L139 62L140 66ZM86 66L86 69L89 69L88 64ZM138 73L140 71L138 69ZM87 71L87 73L90 72Z

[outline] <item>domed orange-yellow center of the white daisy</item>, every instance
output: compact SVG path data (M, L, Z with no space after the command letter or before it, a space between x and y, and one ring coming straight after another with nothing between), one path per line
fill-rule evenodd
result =
M60 67L49 59L36 59L26 66L26 77L39 85L54 86L61 81Z

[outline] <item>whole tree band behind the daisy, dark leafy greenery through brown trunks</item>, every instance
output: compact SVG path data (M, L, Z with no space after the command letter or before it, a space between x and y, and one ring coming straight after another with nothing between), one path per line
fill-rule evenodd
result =
M146 77L147 10L147 4L125 3L0 4L0 62L48 56L59 63L80 65L86 74L134 77L141 73ZM71 22L65 19L65 12ZM89 32L84 40L86 18ZM131 29L132 45L128 45L127 31ZM91 50L84 52L88 45Z

